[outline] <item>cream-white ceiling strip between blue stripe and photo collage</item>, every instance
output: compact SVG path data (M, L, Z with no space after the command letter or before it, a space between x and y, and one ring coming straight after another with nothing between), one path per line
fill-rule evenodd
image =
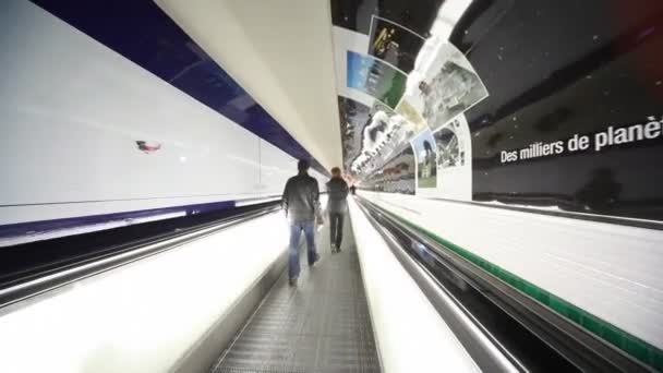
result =
M155 0L329 169L341 165L328 0Z

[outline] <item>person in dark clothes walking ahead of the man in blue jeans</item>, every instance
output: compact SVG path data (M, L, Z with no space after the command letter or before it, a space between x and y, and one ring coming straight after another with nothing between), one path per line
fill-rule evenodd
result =
M343 238L343 215L348 208L346 198L348 196L348 183L340 176L340 168L332 169L332 179L327 181L327 212L329 213L329 237L332 239L332 252L340 252L340 241Z

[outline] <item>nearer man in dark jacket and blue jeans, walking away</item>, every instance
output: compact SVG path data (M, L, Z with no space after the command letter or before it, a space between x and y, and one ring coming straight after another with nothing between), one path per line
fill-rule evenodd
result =
M320 189L317 180L309 176L309 163L300 160L297 165L299 173L288 179L284 190L282 204L286 216L290 221L290 248L288 257L288 275L290 285L297 284L299 277L299 238L302 230L306 237L309 248L309 265L317 262L318 255L315 251L315 220L322 224L320 215Z

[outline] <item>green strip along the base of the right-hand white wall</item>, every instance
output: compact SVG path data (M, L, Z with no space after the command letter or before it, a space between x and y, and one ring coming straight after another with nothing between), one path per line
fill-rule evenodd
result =
M444 246L454 251L456 254L465 257L466 260L474 263L479 267L487 270L503 281L511 285L516 289L525 292L526 294L534 298L539 302L547 305L557 313L568 317L578 325L581 325L587 330L590 330L594 335L603 338L613 346L622 349L631 357L638 359L644 364L651 365L659 371L663 371L663 351L656 347L646 342L644 340L625 332L620 328L590 314L589 312L575 306L574 304L565 301L564 299L552 294L535 285L522 279L508 270L501 268L499 266L482 258L481 256L473 254L472 252L460 248L459 245L449 242L442 237L426 230L425 228L419 227L418 225L393 214L397 219L403 224L412 227L433 240L442 243Z

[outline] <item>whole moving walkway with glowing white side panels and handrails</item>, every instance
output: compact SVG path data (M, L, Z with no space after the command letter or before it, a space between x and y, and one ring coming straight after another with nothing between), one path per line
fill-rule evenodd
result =
M349 216L343 251L318 230L297 287L275 203L21 267L0 290L0 370L653 371L369 201Z

